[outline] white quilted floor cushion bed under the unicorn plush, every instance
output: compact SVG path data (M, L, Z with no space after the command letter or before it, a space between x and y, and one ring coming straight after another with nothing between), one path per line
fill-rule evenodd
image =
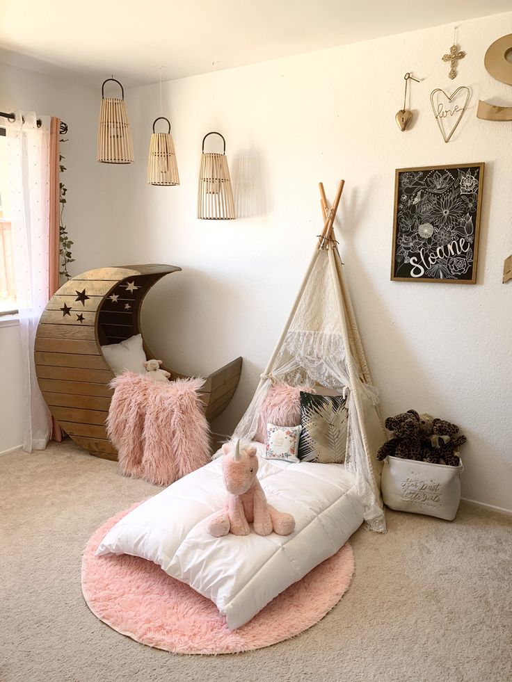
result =
M207 517L225 499L219 457L127 514L97 554L131 554L157 563L214 601L234 630L335 554L363 520L354 479L342 464L260 457L258 478L268 501L294 515L291 535L209 535Z

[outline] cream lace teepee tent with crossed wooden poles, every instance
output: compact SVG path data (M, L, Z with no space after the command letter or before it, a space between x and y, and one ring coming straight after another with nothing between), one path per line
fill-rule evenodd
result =
M378 412L378 393L371 384L365 353L355 323L343 263L333 238L333 225L344 181L340 181L332 209L320 184L324 217L310 266L294 307L259 386L234 438L253 439L259 408L273 382L317 385L346 391L349 428L346 468L355 477L365 505L365 521L371 530L383 532L381 464L378 448L386 439Z

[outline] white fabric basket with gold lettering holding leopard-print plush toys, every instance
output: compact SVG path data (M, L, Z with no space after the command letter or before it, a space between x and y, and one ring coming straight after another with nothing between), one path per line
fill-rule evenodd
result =
M464 467L387 457L382 471L385 504L399 512L453 521L461 501Z

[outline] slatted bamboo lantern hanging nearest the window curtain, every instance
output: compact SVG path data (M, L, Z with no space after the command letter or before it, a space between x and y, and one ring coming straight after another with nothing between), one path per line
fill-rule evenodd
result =
M122 97L105 97L105 83L114 81L121 88ZM102 85L102 108L99 111L96 159L100 163L134 163L134 145L125 108L125 90L115 78L107 78Z

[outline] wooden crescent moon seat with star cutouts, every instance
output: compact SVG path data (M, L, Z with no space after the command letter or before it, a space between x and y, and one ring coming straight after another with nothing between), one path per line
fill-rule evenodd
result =
M142 334L145 295L161 277L181 269L149 264L88 270L61 286L41 316L35 371L42 395L63 430L93 455L117 458L104 425L114 373L101 346ZM144 350L147 359L154 358L145 341ZM230 402L241 365L238 357L207 377L202 399L209 421ZM172 379L184 376L165 369Z

